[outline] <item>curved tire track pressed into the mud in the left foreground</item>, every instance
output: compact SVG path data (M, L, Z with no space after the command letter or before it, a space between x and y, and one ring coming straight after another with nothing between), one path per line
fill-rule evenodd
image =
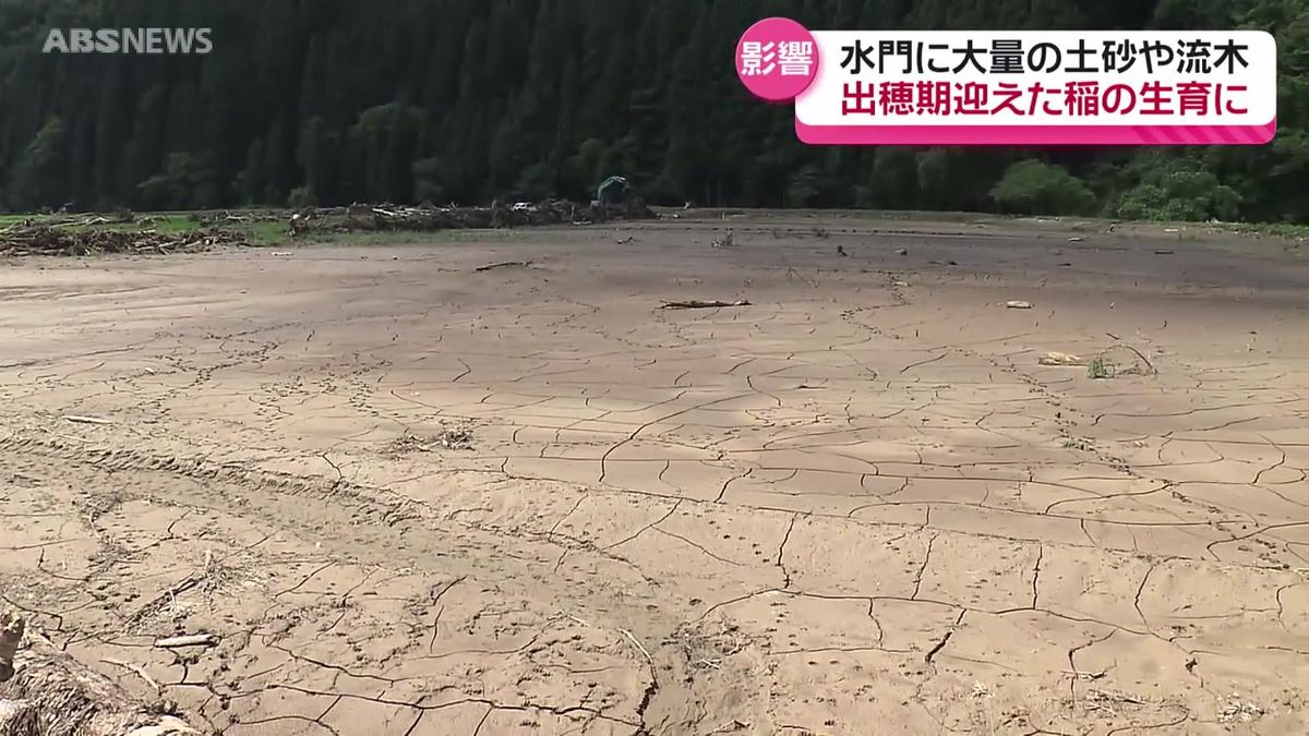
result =
M329 559L376 568L402 566L404 570L476 581L484 591L500 592L500 597L529 601L543 621L564 616L583 621L588 627L609 631L615 639L620 639L617 634L622 633L634 644L641 642L626 653L631 660L632 677L644 682L639 691L632 693L635 722L602 714L597 716L585 702L526 703L528 707L552 712L580 708L579 712L597 716L598 720L593 720L603 728L630 727L632 733L691 732L706 714L732 710L730 702L724 703L729 701L728 689L711 686L708 691L699 691L708 672L692 665L691 652L685 647L687 638L703 636L700 627L686 623L692 618L687 613L690 606L678 602L675 593L661 589L658 581L639 570L636 578L628 574L622 576L620 585L613 585L620 589L611 589L606 583L613 583L619 575L617 570L615 575L605 575L606 566L610 570L620 564L636 566L605 554L585 540L551 532L548 521L539 530L470 524L441 517L428 504L387 488L339 478L304 477L254 469L241 462L139 449L88 448L46 437L0 439L0 469L12 469L22 477L39 475L55 483L67 481L69 487L84 488L88 494L96 492L96 486L101 483L115 483L114 495L120 504L144 500L162 507L234 515L249 519L251 525L274 528L278 536L297 538L305 547L321 550ZM186 482L179 482L182 479ZM169 538L182 537L170 529ZM558 553L535 554L533 547L541 546L567 547L571 559L596 571L593 584L552 584L551 567ZM495 600L480 605L493 606ZM569 610L585 618L568 614ZM69 617L60 617L60 629L65 619ZM554 642L552 646L568 650L569 642ZM237 652L232 656L240 659L242 655ZM296 659L319 664L308 657ZM729 667L730 663L723 663L713 674L721 674ZM183 684L195 686L187 682L186 676ZM207 689L209 701L226 703L238 697L220 693L213 684ZM424 707L432 706L419 703L414 707L425 712Z

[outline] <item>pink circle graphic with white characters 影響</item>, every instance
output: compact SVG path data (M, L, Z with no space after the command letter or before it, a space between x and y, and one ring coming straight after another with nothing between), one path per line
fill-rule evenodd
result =
M818 76L818 43L791 18L764 18L737 42L737 76L755 97L795 100Z

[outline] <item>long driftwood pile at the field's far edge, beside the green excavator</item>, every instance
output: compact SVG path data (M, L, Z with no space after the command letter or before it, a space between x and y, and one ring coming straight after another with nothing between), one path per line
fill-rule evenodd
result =
M589 225L615 220L653 220L657 215L643 202L583 204L548 199L537 204L491 207L351 206L301 210L291 217L291 234L356 230L449 230L520 228L530 225Z

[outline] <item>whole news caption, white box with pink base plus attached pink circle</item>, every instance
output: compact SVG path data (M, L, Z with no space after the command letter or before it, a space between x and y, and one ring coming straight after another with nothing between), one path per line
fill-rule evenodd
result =
M737 76L795 102L812 144L1241 145L1278 127L1278 47L1254 30L750 26Z

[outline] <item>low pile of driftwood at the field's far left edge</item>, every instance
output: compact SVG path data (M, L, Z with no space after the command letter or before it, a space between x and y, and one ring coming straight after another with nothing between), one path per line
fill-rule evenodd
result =
M54 227L31 220L0 229L0 255L168 254L220 245L249 244L240 233L215 229L160 233L153 229Z

